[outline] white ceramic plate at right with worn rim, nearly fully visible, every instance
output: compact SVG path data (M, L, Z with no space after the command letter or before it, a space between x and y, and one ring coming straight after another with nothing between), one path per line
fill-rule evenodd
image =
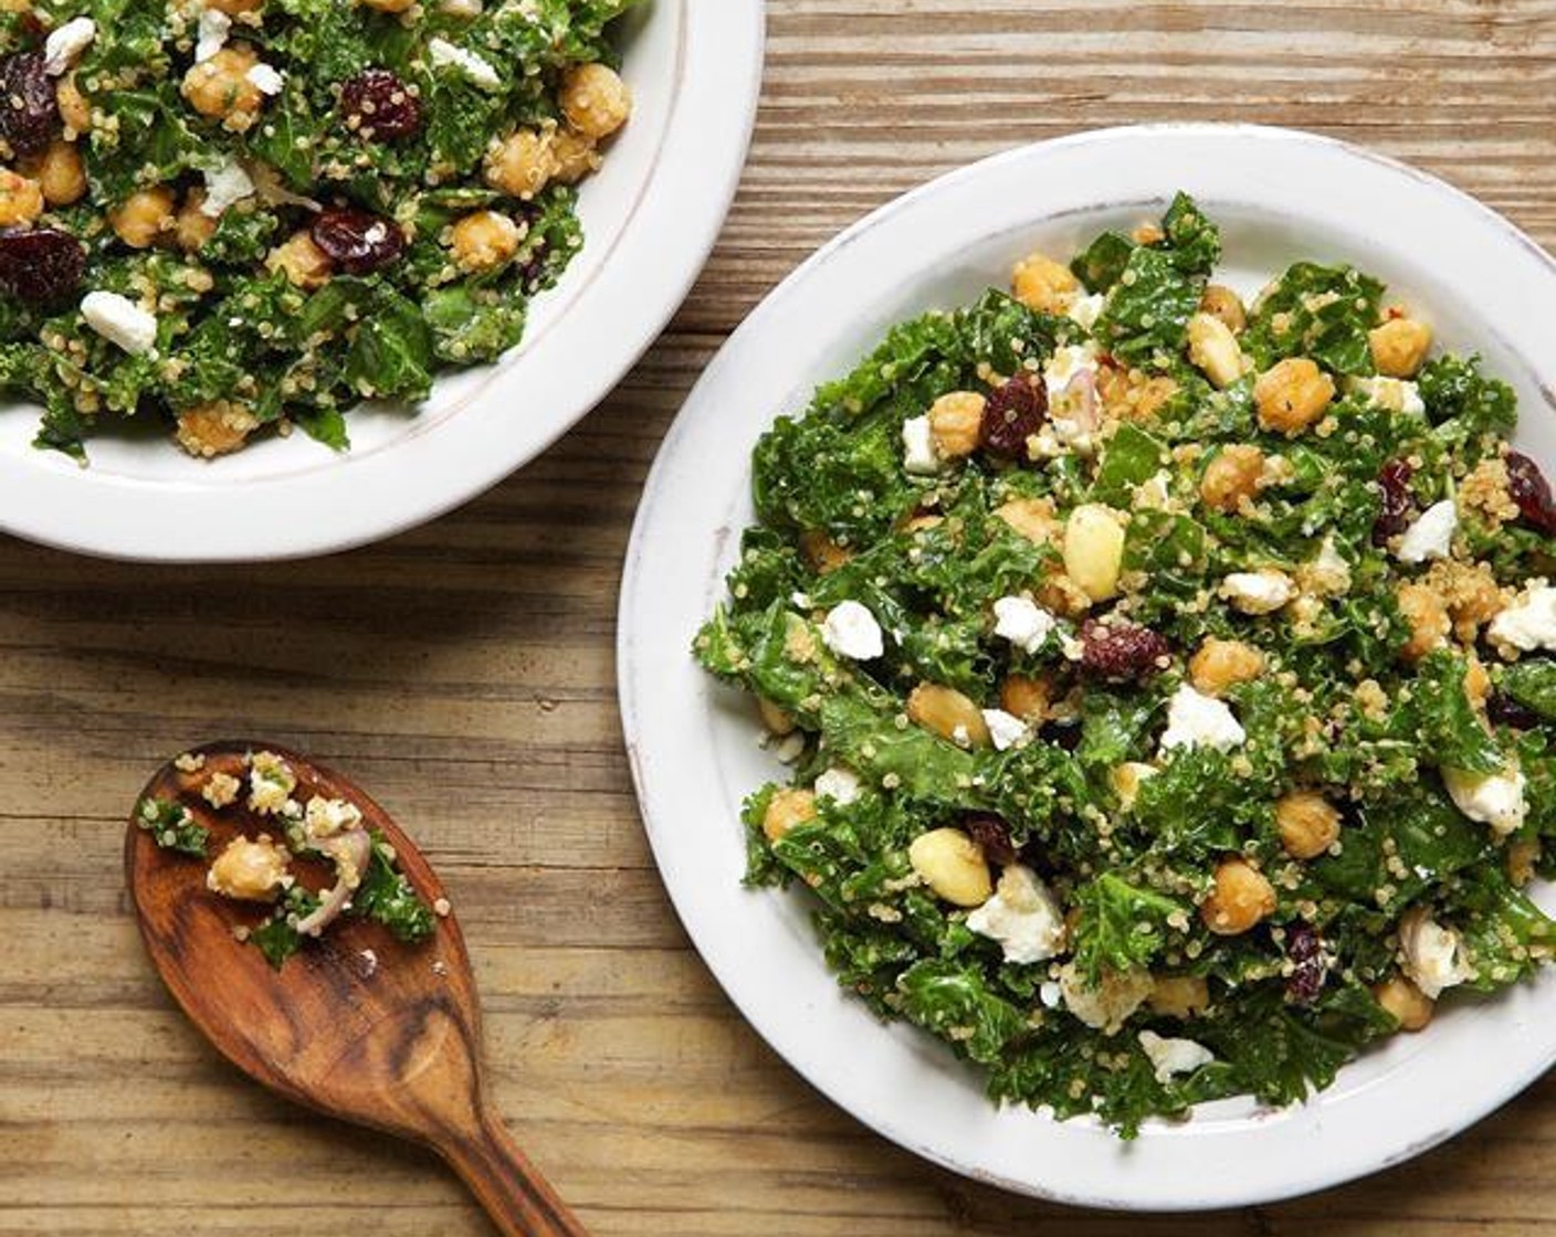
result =
M710 366L664 442L621 597L621 703L649 839L675 907L752 1025L834 1102L972 1178L1127 1209L1260 1203L1397 1164L1508 1100L1556 1060L1556 976L1346 1067L1309 1103L1201 1106L1122 1144L1091 1120L994 1108L930 1036L876 1022L826 972L806 898L741 887L741 798L778 766L745 699L688 647L753 520L748 454L780 412L845 372L885 328L1004 285L1029 249L1072 252L1153 218L1173 190L1225 229L1251 289L1298 257L1349 260L1422 307L1442 342L1517 387L1520 443L1556 464L1548 324L1556 266L1446 184L1309 134L1245 126L1111 129L935 180L851 227L790 275Z

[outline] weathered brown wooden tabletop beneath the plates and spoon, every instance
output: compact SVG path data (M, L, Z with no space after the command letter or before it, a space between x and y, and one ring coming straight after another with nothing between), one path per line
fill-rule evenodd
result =
M1411 159L1551 244L1556 2L772 0L770 36L713 263L622 389L521 476L300 566L0 543L0 1234L490 1232L431 1158L223 1066L142 955L123 812L163 758L229 733L313 752L420 837L470 938L498 1102L598 1234L1545 1232L1551 1080L1374 1181L1201 1218L1043 1206L881 1142L691 952L640 832L612 638L633 504L680 398L842 226L1033 138L1237 118Z

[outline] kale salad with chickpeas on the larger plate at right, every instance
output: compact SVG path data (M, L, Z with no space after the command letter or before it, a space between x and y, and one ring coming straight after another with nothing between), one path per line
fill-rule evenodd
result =
M893 328L753 457L696 655L792 776L752 885L991 1097L1302 1100L1551 957L1556 504L1512 389L1179 194Z

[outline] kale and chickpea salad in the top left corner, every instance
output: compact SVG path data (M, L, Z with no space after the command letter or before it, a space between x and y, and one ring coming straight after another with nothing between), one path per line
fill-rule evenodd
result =
M517 344L632 0L0 0L0 392L198 457Z

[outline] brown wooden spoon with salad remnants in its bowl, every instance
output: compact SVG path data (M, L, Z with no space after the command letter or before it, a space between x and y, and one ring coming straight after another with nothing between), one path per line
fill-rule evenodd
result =
M492 1114L475 980L451 913L422 944L401 944L377 923L342 916L280 971L235 937L261 923L268 907L209 892L210 859L240 832L282 834L274 817L246 806L251 752L274 752L291 766L300 803L313 795L355 803L364 825L394 845L417 893L447 909L443 887L411 839L345 778L279 747L210 744L163 766L143 792L184 804L210 829L207 859L159 848L134 815L124 839L140 934L168 991L255 1081L436 1150L509 1237L587 1237ZM243 783L227 808L212 808L201 795L213 773Z

